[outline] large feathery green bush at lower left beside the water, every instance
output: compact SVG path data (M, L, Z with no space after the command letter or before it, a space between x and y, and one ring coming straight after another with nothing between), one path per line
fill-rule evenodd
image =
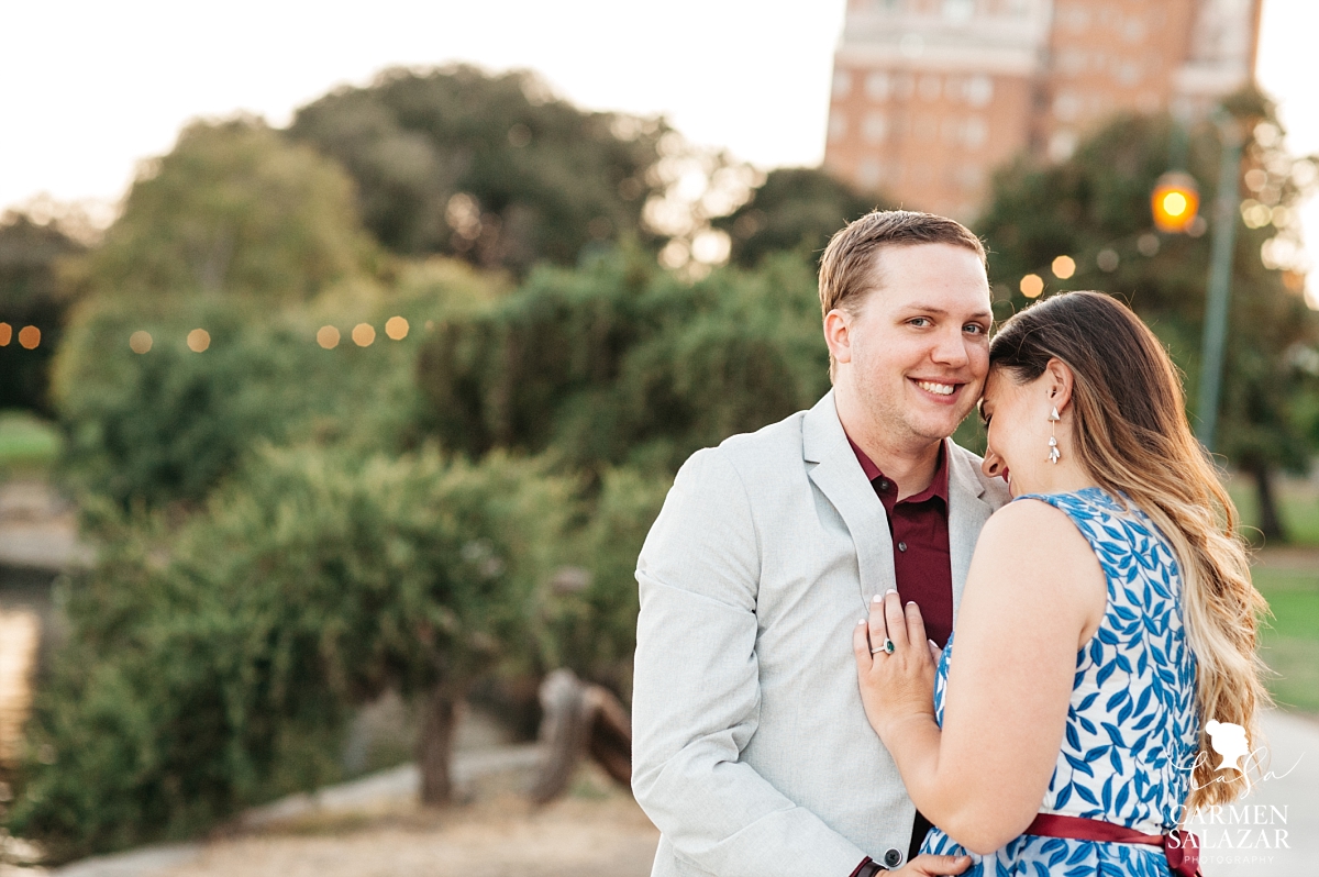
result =
M452 704L536 666L537 588L574 504L503 455L297 448L257 455L175 531L102 513L5 819L55 859L332 779L350 708L386 688Z

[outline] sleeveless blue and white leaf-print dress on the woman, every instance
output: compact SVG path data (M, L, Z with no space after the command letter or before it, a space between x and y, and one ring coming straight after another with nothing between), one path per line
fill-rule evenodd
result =
M1064 512L1108 579L1108 608L1076 653L1067 731L1039 812L1100 819L1144 833L1177 827L1199 744L1195 655L1182 626L1182 579L1171 546L1138 509L1100 488L1031 495ZM935 678L943 724L948 640ZM922 852L966 851L934 828ZM1158 847L1022 835L991 856L969 853L973 877L1167 877Z

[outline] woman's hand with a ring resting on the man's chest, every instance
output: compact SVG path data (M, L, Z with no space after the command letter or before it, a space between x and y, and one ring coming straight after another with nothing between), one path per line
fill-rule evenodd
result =
M897 591L874 597L871 617L852 633L856 675L865 717L890 745L894 729L913 717L934 720L934 673L938 646L926 640L915 603L902 607Z

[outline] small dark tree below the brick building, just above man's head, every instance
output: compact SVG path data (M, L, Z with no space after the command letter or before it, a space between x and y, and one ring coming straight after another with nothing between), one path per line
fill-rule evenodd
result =
M828 171L780 167L735 212L714 224L732 237L732 261L751 268L769 253L801 251L818 258L834 232L884 206Z

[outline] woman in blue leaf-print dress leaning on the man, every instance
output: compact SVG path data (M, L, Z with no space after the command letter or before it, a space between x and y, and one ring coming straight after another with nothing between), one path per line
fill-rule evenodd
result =
M923 851L972 853L967 874L1195 873L1178 826L1246 787L1202 727L1257 739L1266 607L1177 371L1119 302L1057 295L995 338L981 417L1014 501L942 658L893 591L853 634L867 716L936 826Z

